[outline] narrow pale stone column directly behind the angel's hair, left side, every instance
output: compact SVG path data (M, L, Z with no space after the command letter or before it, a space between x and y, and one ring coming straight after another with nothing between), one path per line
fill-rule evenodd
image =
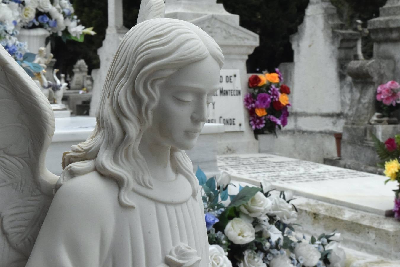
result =
M95 116L100 93L103 90L108 68L122 37L128 31L123 25L122 0L108 0L108 27L103 45L97 50L100 57L100 68L92 70L93 95L90 102L90 116Z

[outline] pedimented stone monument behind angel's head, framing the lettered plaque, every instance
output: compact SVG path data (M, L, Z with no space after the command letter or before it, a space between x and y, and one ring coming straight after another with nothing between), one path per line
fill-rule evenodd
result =
M239 16L226 12L216 0L170 0L166 2L166 18L189 21L210 34L221 47L225 57L224 69L240 71L241 94L247 93L246 60L259 45L258 35L239 26ZM245 125L243 131L225 132L218 141L218 153L258 152L258 143L248 124L248 112L244 106Z

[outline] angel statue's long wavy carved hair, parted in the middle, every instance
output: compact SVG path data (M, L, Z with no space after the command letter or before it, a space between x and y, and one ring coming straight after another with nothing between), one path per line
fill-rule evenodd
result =
M159 85L179 68L209 55L222 68L224 56L218 44L191 23L162 18L131 28L108 70L96 112L96 127L85 142L64 153L64 171L56 189L72 177L96 170L118 183L121 205L134 207L127 194L138 185L153 187L138 147L143 132L152 123ZM174 147L171 159L178 172L189 180L195 196L198 181L190 159Z

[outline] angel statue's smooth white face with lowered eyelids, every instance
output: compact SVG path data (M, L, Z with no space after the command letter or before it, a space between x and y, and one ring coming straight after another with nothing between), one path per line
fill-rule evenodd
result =
M154 142L178 149L196 145L210 114L212 95L219 86L220 68L211 56L189 64L160 85L160 100L153 110L153 123L146 133Z

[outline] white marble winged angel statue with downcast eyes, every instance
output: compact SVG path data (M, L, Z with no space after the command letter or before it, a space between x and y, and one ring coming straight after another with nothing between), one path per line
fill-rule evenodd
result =
M164 1L142 1L108 71L96 127L62 155L60 177L44 162L50 104L0 48L0 266L208 266L202 197L184 149L208 117L224 57L206 32L163 14Z

